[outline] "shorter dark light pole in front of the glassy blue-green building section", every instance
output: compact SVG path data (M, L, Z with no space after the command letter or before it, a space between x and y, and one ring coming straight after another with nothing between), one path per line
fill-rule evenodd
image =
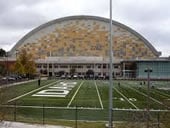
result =
M152 72L151 68L145 69L147 72L147 128L149 128L149 120L150 120L150 73Z

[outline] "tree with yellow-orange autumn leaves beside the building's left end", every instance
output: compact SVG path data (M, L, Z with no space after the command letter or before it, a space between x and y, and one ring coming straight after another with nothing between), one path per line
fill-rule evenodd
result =
M36 73L36 65L32 54L27 53L25 49L19 52L15 63L15 72L27 77L33 76Z

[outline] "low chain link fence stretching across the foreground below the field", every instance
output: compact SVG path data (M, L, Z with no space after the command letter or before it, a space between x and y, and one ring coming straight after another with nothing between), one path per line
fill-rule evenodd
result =
M75 127L79 121L108 121L107 109L92 109L82 107L59 108L47 106L1 106L1 113L4 110L4 119L10 121L22 121L30 123L47 124L57 120L75 121ZM169 128L170 111L169 110L150 110L149 120L146 110L137 109L114 109L113 123L123 122L128 125L125 128ZM122 127L123 128L123 127Z

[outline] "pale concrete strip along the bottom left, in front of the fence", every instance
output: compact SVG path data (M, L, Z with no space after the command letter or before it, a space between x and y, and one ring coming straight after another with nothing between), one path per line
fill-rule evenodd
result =
M3 121L0 122L0 128L71 128L71 127Z

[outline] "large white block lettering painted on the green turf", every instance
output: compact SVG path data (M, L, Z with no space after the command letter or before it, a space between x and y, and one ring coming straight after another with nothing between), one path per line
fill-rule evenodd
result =
M40 97L66 97L67 94L75 87L77 82L60 82L48 89L41 90L32 96Z

